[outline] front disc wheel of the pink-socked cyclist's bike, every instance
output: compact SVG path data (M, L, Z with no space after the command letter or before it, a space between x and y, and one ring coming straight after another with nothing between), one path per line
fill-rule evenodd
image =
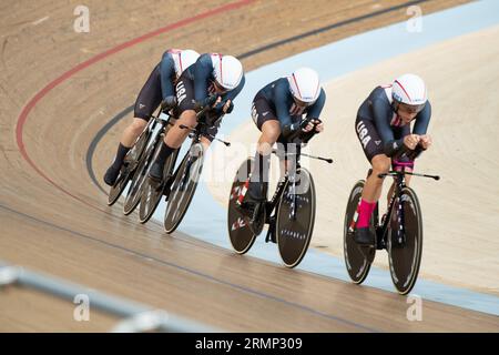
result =
M403 189L400 196L395 201L395 207L387 236L388 261L395 287L399 294L406 295L416 284L421 263L421 207L410 187Z

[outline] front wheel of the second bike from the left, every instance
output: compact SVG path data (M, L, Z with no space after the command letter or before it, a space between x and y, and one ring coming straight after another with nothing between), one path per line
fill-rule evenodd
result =
M192 145L175 173L164 213L164 230L169 234L176 230L187 212L200 181L203 159L203 144Z

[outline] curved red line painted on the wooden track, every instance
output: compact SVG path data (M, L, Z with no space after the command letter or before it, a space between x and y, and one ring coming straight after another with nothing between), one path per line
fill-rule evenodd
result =
M231 2L231 3L227 3L227 4L225 4L225 6L222 6L222 7L218 7L218 8L208 10L208 11L205 11L205 12L203 12L203 13L196 14L196 16L194 16L194 17L186 18L186 19L183 19L183 20L181 20L181 21L174 22L174 23L172 23L172 24L169 24L169 26L166 26L166 27L163 27L163 28L157 29L157 30L155 30L155 31L152 31L152 32L150 32L150 33L145 33L145 34L143 34L143 36L141 36L141 37L138 37L138 38L135 38L135 39L133 39L133 40L130 40L130 41L128 41L128 42L121 43L120 45L116 45L116 47L114 47L114 48L111 48L111 49L109 49L109 50L106 50L106 51L104 51L104 52L102 52L102 53L100 53L100 54L96 54L95 57L93 57L93 58L91 58L91 59L89 59L89 60L86 60L86 61L84 61L84 62L78 64L77 67L70 69L70 70L67 71L67 72L64 72L64 73L63 73L62 75L60 75L59 78L57 78L57 79L54 79L53 81L51 81L51 82L50 82L49 84L47 84L42 90L40 90L40 91L39 91L39 92L38 92L38 93L37 93L37 94L28 102L28 104L24 105L24 108L23 108L22 111L21 111L21 114L20 114L19 118L18 118L18 123L17 123L17 126L16 126L16 140L17 140L18 149L19 149L19 151L21 152L22 158L31 165L31 168L34 169L34 171L35 171L39 175L41 175L43 179L45 179L48 182L50 182L53 186L55 186L57 189L61 190L61 191L64 192L65 194L68 194L68 195L72 196L72 197L74 197L74 199L77 199L77 200L83 202L84 204L90 205L90 204L86 203L85 201L83 201L83 200L81 200L80 197L78 197L78 196L71 194L70 192L65 191L63 187L59 186L53 180L51 180L49 176L47 176L47 175L45 175L45 174L37 166L37 164L34 164L34 162L31 160L31 158L28 155L28 152L27 152L26 146L24 146L24 141L23 141L23 138L22 138L22 131L23 131L24 124L26 124L26 122L27 122L27 120L28 120L28 115L29 115L29 113L31 112L31 110L32 110L32 109L37 105L37 103L38 103L41 99L43 99L43 98L44 98L52 89L54 89L55 87L58 87L59 84L61 84L62 82L64 82L65 80L68 80L68 79L71 78L72 75L74 75L75 73L78 73L79 71L81 71L81 70L83 70L83 69L85 69L85 68L89 68L90 65L92 65L92 64L94 64L94 63L96 63L96 62L99 62L99 61L101 61L101 60L103 60L103 59L105 59L105 58L108 58L108 57L110 57L110 55L112 55L112 54L115 54L115 53L118 53L118 52L120 52L120 51L122 51L122 50L124 50L124 49L128 49L128 48L130 48L130 47L133 47L133 45L135 45L135 44L138 44L138 43L144 42L144 41L146 41L146 40L149 40L149 39L151 39L151 38L154 38L154 37L159 36L159 34L162 34L162 33L165 33L165 32L169 32L169 31L179 29L179 28L181 28L181 27L187 26L187 24L190 24L190 23L193 23L193 22L203 20L203 19L205 19L205 18L208 18L208 17L212 17L212 16L215 16L215 14L220 14L220 13L223 13L223 12L226 12L226 11L231 11L231 10L238 9L238 8L241 8L241 7L244 7L244 6L247 6L247 4L252 3L252 2L254 2L254 1L255 1L255 0L240 0L240 1ZM92 205L90 205L90 206L92 206Z

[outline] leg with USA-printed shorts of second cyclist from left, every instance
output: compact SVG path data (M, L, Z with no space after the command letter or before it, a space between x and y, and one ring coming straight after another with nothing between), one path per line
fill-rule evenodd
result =
M186 72L179 78L179 82L175 85L177 108L176 113L179 119L174 125L166 132L164 140L161 144L160 153L156 160L151 166L150 178L160 181L163 176L163 166L166 159L179 148L189 135L189 130L183 130L180 126L196 126L196 112L194 111L194 83L187 77Z

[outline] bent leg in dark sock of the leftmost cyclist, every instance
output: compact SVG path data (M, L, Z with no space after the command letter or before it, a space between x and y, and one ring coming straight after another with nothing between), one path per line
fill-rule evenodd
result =
M113 163L105 172L104 182L108 185L113 185L116 181L126 153L130 151L139 135L147 125L147 121L151 118L151 114L160 105L160 103L161 81L159 65L156 65L149 75L147 81L144 83L139 93L139 97L136 98L133 110L133 121L123 131Z

